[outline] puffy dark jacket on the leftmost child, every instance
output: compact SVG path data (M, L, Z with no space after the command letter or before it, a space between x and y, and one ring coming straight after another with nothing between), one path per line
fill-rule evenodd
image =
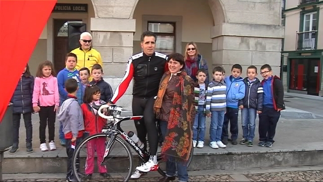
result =
M33 76L27 76L24 73L13 92L11 97L11 103L13 103L13 113L15 114L23 114L23 113L31 113L32 109L32 92L34 86L34 78Z

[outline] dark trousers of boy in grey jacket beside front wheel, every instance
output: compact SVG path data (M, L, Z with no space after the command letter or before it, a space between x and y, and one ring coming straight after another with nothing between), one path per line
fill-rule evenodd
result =
M75 149L76 147L80 144L82 141L82 138L77 138L75 142L73 142ZM66 154L67 154L67 174L66 174L66 179L68 180L76 180L75 176L73 175L73 168L72 168L72 160L73 160L73 154L74 150L72 149L72 142L71 139L66 139ZM80 169L80 153L78 153L77 160L76 160L76 169L77 172Z

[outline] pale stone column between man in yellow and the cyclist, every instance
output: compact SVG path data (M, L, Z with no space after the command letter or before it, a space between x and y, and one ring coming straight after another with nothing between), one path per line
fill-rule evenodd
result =
M101 53L103 59L104 80L113 91L121 82L128 59L133 54L135 19L122 18L91 18L93 48ZM132 83L117 105L131 110Z

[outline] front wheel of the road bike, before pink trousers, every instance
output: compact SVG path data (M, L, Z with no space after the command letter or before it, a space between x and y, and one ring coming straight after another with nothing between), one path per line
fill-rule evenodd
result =
M76 147L72 159L72 168L78 182L104 178L101 175L104 172L108 172L111 175L110 178L105 177L104 181L128 182L133 172L132 152L124 140L116 136L112 139L109 155L103 161L103 156L107 152L106 147L110 140L111 138L106 134L99 133L86 137ZM97 161L98 166L97 173L100 173L100 175L95 174L95 161Z

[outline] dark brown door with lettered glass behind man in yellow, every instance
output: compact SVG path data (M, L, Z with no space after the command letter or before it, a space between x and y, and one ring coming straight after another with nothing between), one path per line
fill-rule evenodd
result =
M54 19L54 68L58 73L65 68L68 53L68 23L82 23L82 20Z

